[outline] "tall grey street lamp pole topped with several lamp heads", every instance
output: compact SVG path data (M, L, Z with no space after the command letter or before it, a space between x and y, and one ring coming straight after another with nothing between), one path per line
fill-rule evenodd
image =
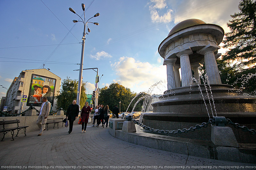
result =
M85 5L82 4L82 9L83 11L85 10ZM76 14L76 12L72 9L69 8L69 11L73 12L74 14ZM76 14L79 18L81 18L78 14ZM93 17L98 17L100 16L100 13L96 13ZM91 17L91 18L93 18ZM80 97L81 97L81 86L82 86L82 73L83 73L83 62L84 62L84 41L85 41L85 35L88 34L87 32L85 32L86 26L87 26L87 31L91 32L91 30L89 29L87 23L92 23L94 25L99 25L99 23L97 22L88 22L91 18L89 18L86 22L85 22L85 13L84 13L84 19L82 19L82 21L77 21L77 20L73 20L74 23L76 22L82 22L84 23L84 32L83 32L83 42L82 42L82 53L81 53L81 61L80 61L80 69L79 69L79 80L78 80L78 89L77 89L77 96L76 96L76 104L78 104L80 106Z

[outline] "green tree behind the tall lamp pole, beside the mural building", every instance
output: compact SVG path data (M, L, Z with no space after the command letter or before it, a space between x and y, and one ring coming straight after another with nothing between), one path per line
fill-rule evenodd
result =
M67 77L62 81L60 94L56 96L57 99L57 107L63 108L63 110L67 110L68 106L72 104L73 100L76 100L78 89L78 81L72 80L70 77ZM81 88L81 97L80 97L80 105L84 106L84 103L87 99L86 97L86 82L82 82Z

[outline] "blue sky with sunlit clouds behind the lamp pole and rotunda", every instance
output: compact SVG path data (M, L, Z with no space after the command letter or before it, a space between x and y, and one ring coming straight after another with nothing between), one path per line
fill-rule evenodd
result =
M83 23L68 10L90 19L83 68L99 68L99 88L119 83L139 93L166 82L166 66L158 46L171 29L189 18L220 25L238 12L239 0L1 0L0 84L9 88L22 70L50 68L61 79L78 80ZM222 44L220 44L221 46ZM225 53L227 49L219 49ZM83 71L86 93L95 88L96 72ZM164 85L161 87L167 89ZM155 94L162 93L155 88ZM0 97L7 90L0 88Z

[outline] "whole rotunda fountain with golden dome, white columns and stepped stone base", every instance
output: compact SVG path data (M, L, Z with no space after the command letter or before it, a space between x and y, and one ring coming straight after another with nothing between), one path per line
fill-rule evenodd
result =
M243 96L232 86L221 84L216 59L221 56L218 45L223 36L224 30L219 25L206 24L199 19L187 19L172 28L158 47L167 67L168 90L159 101L152 103L154 113L145 113L143 124L159 130L177 130L208 122L213 116L222 116L256 129L256 98ZM207 92L210 93L209 87L207 90L199 80L197 68L202 62L211 87L209 99L205 99ZM232 128L238 143L255 144L256 135ZM171 136L211 140L211 128Z

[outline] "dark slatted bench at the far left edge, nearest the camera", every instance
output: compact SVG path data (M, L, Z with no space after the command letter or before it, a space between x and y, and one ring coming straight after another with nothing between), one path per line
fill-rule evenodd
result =
M20 123L20 120L18 120L18 119L16 119L16 120L3 120L3 121L0 121L0 125L3 125L3 129L0 130L0 133L3 132L3 133L4 133L4 136L5 136L5 134L6 134L8 131L10 131L10 132L12 133L12 140L14 140L14 138L13 138L14 130L16 130L16 129L18 130L17 135L15 136L15 137L17 137L19 131L20 131L21 129L24 129L24 134L25 134L25 136L27 136L27 135L26 135L26 128L27 128L28 126L19 126L19 123ZM11 128L5 129L5 128L4 128L4 125L6 125L6 124L17 124L17 127L11 127ZM2 138L1 141L4 141L4 136L3 136L3 138Z

